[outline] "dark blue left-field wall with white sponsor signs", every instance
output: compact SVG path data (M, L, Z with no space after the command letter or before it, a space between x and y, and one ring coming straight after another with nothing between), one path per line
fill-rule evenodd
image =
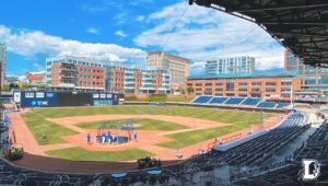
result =
M82 92L14 92L14 102L22 108L118 105L121 94Z

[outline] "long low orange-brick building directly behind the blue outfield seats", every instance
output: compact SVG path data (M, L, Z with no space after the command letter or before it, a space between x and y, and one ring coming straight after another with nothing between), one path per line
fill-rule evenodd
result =
M188 77L185 91L190 88L196 95L280 97L300 91L301 81L294 73L206 74Z

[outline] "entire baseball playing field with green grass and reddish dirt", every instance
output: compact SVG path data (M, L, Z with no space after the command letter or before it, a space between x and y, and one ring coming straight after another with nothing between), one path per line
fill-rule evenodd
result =
M31 93L24 92L27 94ZM10 113L9 120L13 123L10 140L24 148L24 158L15 163L72 173L132 171L138 166L136 161L145 156L168 165L207 152L216 143L271 128L282 117L277 113L194 107L192 104L171 106L165 98L153 97L156 102L151 103L156 104L32 107ZM56 163L55 167L52 160L62 163ZM70 162L69 170L65 162ZM95 168L81 170L86 164L94 164Z

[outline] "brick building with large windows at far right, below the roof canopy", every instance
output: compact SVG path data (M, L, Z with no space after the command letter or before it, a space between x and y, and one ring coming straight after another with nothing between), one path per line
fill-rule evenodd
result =
M284 70L298 73L303 90L328 90L328 68L306 66L289 50L284 53Z

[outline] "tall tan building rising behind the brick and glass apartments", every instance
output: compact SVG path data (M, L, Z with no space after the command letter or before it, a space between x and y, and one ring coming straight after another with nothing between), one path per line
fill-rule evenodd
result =
M171 89L173 92L183 89L184 81L189 75L189 59L163 51L151 51L147 55L148 68L168 70L171 74Z

